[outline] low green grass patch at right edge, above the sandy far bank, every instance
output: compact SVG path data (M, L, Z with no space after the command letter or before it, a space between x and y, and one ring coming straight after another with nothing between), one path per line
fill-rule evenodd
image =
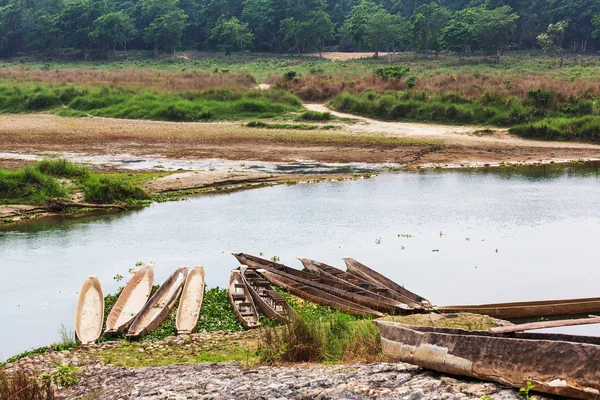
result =
M512 127L510 132L527 139L600 142L600 116L550 118Z

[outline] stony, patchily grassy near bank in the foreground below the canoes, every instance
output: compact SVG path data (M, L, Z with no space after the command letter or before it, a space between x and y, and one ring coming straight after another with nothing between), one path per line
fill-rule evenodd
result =
M403 320L427 324L426 316ZM491 321L468 315L458 320ZM450 321L436 317L430 324L456 324ZM518 391L497 384L390 363L383 356L369 364L261 364L257 349L262 335L259 330L220 331L131 344L106 342L25 357L9 364L6 371L51 374L57 365L73 367L76 383L57 388L58 398L518 398Z

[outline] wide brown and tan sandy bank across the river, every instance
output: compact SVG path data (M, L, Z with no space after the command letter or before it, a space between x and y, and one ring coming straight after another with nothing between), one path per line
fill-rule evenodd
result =
M322 110L323 106L310 106ZM328 123L331 124L331 123ZM170 159L463 165L597 159L600 146L534 141L503 130L359 118L327 131L248 128L234 122L173 123L54 115L0 118L0 148L13 153L131 154Z

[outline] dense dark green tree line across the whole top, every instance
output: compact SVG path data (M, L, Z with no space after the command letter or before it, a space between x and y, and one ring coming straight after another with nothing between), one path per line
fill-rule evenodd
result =
M600 48L600 0L0 0L0 56ZM76 53L76 54L77 54Z

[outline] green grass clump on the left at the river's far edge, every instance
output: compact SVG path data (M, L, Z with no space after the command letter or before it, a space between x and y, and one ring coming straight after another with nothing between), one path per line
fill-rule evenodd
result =
M0 169L0 204L44 205L82 190L89 203L114 204L150 200L138 178L104 175L67 160L44 160L14 171ZM68 181L65 181L68 180Z

